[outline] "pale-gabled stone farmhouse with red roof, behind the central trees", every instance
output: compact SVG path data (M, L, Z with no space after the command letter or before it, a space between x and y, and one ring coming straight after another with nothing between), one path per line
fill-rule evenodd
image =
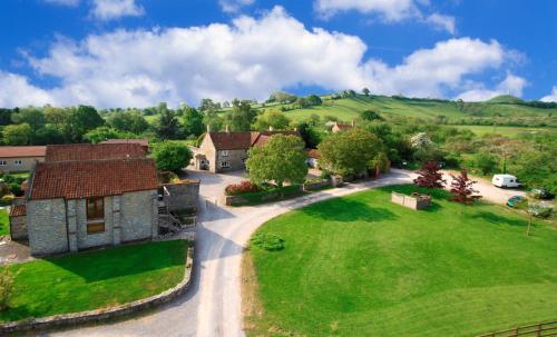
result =
M192 148L196 169L211 172L245 169L247 151L264 146L274 135L299 136L297 131L207 132L199 148Z

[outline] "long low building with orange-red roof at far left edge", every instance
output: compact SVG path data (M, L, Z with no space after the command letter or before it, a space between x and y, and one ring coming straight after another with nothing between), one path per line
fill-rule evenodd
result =
M45 161L46 147L0 147L0 171L30 171L35 163Z

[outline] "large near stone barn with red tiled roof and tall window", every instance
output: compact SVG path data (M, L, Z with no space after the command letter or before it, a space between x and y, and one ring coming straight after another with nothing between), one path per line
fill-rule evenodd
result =
M48 146L12 205L12 239L28 239L32 255L153 239L182 226L175 214L195 211L198 190L160 185L139 143Z

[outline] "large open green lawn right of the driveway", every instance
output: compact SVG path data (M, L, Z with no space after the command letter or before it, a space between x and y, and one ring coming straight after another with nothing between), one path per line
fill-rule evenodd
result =
M413 211L370 190L280 216L252 248L262 315L250 336L473 336L557 318L557 229L436 192ZM246 272L246 271L244 271Z

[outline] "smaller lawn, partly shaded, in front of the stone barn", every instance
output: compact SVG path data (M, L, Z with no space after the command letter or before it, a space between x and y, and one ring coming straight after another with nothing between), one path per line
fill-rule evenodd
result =
M90 310L159 294L184 277L183 240L120 246L12 265L10 308L0 320Z

